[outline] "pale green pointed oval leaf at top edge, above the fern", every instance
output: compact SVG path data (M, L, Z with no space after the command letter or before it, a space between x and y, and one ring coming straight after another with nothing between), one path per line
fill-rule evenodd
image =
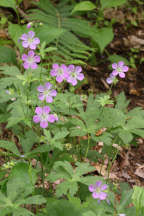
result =
M96 8L96 5L90 1L82 1L75 5L72 10L72 14L77 11L90 11Z

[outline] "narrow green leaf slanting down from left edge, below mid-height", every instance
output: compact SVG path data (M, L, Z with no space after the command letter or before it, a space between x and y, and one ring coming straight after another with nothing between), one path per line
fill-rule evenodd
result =
M9 142L6 140L0 140L0 148L4 148L4 149L14 153L15 155L20 155L20 152L18 151L16 144L13 142Z

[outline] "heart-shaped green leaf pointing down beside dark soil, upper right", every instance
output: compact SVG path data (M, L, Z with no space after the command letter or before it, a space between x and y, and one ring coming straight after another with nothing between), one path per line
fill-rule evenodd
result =
M91 34L92 40L96 42L103 52L104 48L113 40L114 34L110 27L104 27L101 29L95 29L93 27L93 33Z

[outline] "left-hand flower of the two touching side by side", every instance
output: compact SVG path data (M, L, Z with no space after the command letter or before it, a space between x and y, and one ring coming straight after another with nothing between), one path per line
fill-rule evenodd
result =
M55 76L56 81L58 83L61 83L68 77L67 66L64 64L62 64L61 66L59 66L58 64L53 64L52 70L50 71L50 75Z

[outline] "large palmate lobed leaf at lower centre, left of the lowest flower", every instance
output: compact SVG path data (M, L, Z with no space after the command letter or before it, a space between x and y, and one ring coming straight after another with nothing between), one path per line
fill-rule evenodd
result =
M90 184L96 181L97 178L83 177L84 174L95 170L94 167L90 166L89 163L76 163L76 168L73 169L72 165L67 161L55 162L53 170L48 176L48 180L54 182L58 179L63 179L63 182L57 185L56 195L58 197L63 194L70 194L74 196L78 191L78 182L83 184Z

